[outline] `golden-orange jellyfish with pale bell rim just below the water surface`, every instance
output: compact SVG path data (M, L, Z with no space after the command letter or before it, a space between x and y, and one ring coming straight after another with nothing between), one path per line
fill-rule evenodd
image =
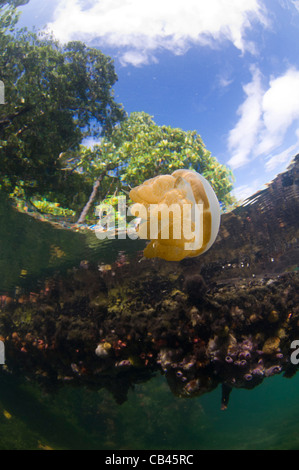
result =
M151 240L146 258L180 261L198 256L215 242L220 205L208 181L193 170L176 170L130 191L131 215L141 223L138 236Z

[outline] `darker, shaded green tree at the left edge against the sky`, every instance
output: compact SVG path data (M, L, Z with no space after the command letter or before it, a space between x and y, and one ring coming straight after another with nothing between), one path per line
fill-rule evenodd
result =
M81 42L14 31L21 3L0 3L0 184L11 192L22 180L26 195L44 194L61 181L61 154L111 133L125 113L113 99L112 60Z

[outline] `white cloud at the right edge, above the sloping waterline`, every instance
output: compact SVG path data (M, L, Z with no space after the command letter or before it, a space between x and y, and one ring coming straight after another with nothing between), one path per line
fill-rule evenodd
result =
M299 127L299 70L290 68L284 75L272 78L266 90L261 86L260 73L254 70L252 81L244 91L246 99L238 110L240 119L228 136L228 149L232 153L228 164L239 168L257 156L266 157L275 152L265 165L269 171L279 161L278 155L287 159L279 150L281 146L287 145L285 152L291 152L298 145L295 133ZM285 141L293 127L290 146Z

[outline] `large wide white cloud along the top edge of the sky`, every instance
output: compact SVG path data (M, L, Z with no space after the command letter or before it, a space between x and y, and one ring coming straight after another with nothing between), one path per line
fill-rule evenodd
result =
M252 51L246 30L267 24L261 0L60 0L48 30L62 42L81 39L124 48L123 63L148 63L160 49L231 41Z

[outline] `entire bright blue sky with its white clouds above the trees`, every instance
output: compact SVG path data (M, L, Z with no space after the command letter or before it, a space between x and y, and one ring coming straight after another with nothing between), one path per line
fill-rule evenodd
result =
M20 26L110 55L116 100L196 130L238 199L299 152L299 0L30 0Z

